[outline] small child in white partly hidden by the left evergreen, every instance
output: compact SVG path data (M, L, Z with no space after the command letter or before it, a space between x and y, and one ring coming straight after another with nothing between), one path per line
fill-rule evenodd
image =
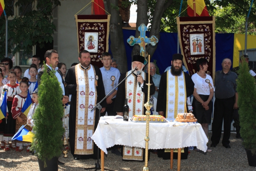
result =
M34 126L34 119L32 119L33 115L35 114L35 110L38 107L38 89L35 89L35 91L32 92L32 100L34 101L34 104L32 104L28 116L27 116L27 124L31 127L30 131L33 131Z

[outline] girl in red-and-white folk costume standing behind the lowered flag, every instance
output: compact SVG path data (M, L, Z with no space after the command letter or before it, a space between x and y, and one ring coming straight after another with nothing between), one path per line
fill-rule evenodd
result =
M26 125L27 117L21 112L21 109L27 99L29 89L29 78L23 77L20 81L20 91L21 93L17 94L14 97L12 102L12 117L16 119L16 131L17 132L22 125ZM29 126L25 127L29 130ZM22 148L27 146L27 151L29 152L30 143L17 142L16 143L16 151L22 151Z

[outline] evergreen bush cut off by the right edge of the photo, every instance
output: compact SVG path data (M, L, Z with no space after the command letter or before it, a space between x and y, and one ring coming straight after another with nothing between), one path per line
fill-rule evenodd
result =
M237 92L239 105L240 134L244 148L256 153L256 85L249 66L243 58L239 67Z

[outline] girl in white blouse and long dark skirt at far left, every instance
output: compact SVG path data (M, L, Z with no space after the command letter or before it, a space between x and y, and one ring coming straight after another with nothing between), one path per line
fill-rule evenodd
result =
M16 129L16 119L13 119L12 117L12 101L14 99L14 96L20 93L19 84L16 83L16 73L13 71L9 72L8 79L10 83L3 86L3 91L1 94L1 103L2 103L4 94L5 92L7 92L6 93L7 115L6 115L6 118L2 119L4 123L4 130L3 130L4 144L1 143L1 148L4 148L5 151L9 151L10 148L16 149L16 143L11 142L12 136L14 136L15 129Z

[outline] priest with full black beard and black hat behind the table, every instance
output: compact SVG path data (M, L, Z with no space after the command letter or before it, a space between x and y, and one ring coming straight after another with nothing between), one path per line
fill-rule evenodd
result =
M187 97L194 92L194 82L189 74L182 71L183 55L172 55L172 68L164 72L160 79L159 91L157 97L157 112L166 119L174 120L178 113L186 113ZM158 157L170 159L168 149L157 150ZM188 148L184 148L181 153L181 159L187 159ZM174 159L177 159L177 153L174 153Z

